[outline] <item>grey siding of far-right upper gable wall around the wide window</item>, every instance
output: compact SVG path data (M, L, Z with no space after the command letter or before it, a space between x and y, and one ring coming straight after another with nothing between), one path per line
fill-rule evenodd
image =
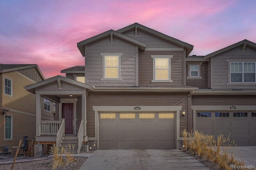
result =
M238 46L223 53L220 53L212 60L212 87L214 89L233 89L233 88L256 88L256 85L227 85L228 82L228 62L226 59L255 59L256 49L246 46L245 50L242 51L242 47Z

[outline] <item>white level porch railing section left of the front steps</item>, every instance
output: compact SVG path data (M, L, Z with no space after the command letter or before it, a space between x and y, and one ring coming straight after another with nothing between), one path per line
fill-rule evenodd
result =
M56 135L61 121L40 121L40 135Z

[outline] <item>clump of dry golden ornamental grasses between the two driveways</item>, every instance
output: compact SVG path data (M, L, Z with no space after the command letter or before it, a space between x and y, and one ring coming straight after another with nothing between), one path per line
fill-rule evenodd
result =
M218 166L221 170L230 170L230 165L244 165L241 159L236 159L232 146L234 141L230 141L230 137L225 138L223 134L217 136L203 134L202 132L188 132L186 129L181 131L183 141L183 149L188 154L199 156L203 160L207 160ZM221 152L220 146L224 146L224 151Z

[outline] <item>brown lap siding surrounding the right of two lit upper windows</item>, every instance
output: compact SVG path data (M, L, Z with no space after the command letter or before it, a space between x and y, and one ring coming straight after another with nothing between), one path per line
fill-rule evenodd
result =
M173 55L171 59L172 83L152 83L153 58L151 55ZM183 85L183 51L139 51L139 85Z

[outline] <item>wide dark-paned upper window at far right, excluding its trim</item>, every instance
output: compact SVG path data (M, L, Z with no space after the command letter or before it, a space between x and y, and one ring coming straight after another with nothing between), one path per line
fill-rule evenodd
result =
M255 62L231 62L230 82L231 83L255 83L256 79Z

